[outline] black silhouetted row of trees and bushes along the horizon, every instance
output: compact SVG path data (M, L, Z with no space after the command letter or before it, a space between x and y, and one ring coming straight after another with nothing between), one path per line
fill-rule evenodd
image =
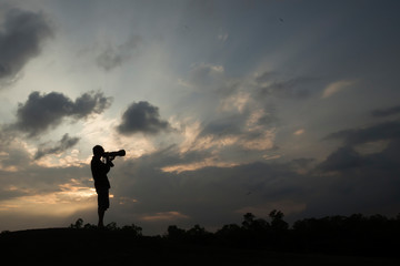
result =
M134 224L118 227L116 223L111 223L106 229L126 232L133 237L152 238L171 245L216 245L277 252L399 256L400 214L394 218L380 214L304 218L297 221L292 226L289 226L283 217L283 213L277 209L269 214L268 221L247 213L240 225L227 224L214 233L208 232L200 225L189 229L170 225L164 235L152 237L143 236L142 228ZM83 225L82 219L78 219L70 227L97 228L94 225Z

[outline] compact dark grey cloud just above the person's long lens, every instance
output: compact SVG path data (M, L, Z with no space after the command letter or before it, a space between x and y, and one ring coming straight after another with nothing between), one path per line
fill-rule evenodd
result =
M117 127L124 135L134 133L156 134L170 129L167 121L160 119L159 109L149 102L133 102L122 114L122 122Z

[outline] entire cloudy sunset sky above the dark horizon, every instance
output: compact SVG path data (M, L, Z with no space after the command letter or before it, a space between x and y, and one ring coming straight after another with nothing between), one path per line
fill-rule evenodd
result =
M0 0L0 231L400 213L400 2Z

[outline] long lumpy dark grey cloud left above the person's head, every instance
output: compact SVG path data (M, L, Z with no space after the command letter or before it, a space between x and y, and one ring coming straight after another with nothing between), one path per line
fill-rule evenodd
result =
M58 126L64 117L83 119L93 113L101 113L111 104L111 98L101 92L88 92L71 99L59 92L40 94L32 92L26 103L20 103L17 122L10 127L27 133L29 137L38 136Z

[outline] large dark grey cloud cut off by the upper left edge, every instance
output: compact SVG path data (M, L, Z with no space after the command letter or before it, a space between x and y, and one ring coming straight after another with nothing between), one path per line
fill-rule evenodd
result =
M0 79L13 79L53 31L43 13L11 9L0 30Z

